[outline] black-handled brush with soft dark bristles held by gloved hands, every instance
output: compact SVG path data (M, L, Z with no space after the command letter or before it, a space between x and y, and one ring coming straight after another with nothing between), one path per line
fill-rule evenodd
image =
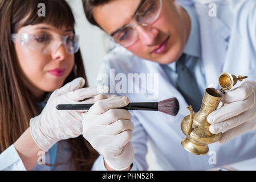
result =
M94 104L60 104L56 106L58 110L89 110ZM160 111L165 114L177 115L180 105L177 98L168 98L160 102L130 102L125 107L119 109L126 110L152 110Z

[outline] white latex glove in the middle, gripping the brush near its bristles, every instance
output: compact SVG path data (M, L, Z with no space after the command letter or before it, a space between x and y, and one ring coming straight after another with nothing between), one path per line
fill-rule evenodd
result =
M104 157L109 167L124 170L131 166L133 123L128 110L114 109L129 104L127 97L96 97L83 118L83 136ZM103 99L103 100L100 100Z

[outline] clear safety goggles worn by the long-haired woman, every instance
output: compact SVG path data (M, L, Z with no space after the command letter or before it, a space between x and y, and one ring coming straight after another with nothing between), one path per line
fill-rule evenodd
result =
M59 35L54 32L40 34L11 34L14 43L21 44L43 54L55 53L60 45L66 49L69 54L78 52L79 38L74 34Z

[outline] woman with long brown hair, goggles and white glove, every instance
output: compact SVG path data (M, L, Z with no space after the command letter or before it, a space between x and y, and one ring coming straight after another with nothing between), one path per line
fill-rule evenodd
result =
M39 3L46 16L38 16ZM99 154L82 136L87 113L56 110L58 104L84 104L99 94L86 88L70 6L64 0L0 0L0 17L0 170L92 169ZM108 109L128 104L124 97L109 99ZM131 119L123 112L115 121ZM132 127L122 130L130 136ZM46 165L40 165L43 154Z

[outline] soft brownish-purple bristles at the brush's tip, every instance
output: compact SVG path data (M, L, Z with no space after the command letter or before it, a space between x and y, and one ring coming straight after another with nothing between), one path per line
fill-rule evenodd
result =
M176 97L168 98L159 102L159 111L165 114L177 115L180 110L180 104Z

